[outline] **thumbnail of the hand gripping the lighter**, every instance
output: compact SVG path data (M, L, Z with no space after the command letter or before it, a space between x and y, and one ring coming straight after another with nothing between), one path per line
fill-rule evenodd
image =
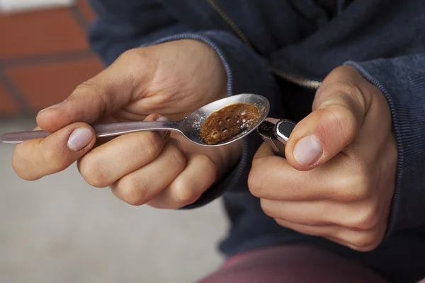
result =
M312 165L322 156L322 146L314 134L303 137L295 144L293 155L297 163L302 166Z

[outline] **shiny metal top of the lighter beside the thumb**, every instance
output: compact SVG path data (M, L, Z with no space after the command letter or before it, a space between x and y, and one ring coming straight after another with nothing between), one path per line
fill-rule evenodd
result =
M295 125L290 120L266 118L257 127L257 132L274 154L285 157L285 145Z

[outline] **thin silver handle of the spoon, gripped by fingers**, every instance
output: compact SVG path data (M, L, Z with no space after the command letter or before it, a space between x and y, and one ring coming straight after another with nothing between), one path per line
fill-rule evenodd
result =
M96 137L114 137L121 134L142 131L170 131L177 129L175 121L147 121L147 122L123 122L104 125L94 125ZM11 132L1 136L1 141L6 144L19 144L28 139L40 139L50 135L45 131Z

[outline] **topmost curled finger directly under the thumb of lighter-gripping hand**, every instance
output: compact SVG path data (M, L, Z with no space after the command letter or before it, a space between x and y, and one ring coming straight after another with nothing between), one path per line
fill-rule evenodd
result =
M346 162L339 154L310 171L298 171L285 158L266 156L252 161L248 187L252 195L267 200L334 200L353 202L373 194L365 167Z

